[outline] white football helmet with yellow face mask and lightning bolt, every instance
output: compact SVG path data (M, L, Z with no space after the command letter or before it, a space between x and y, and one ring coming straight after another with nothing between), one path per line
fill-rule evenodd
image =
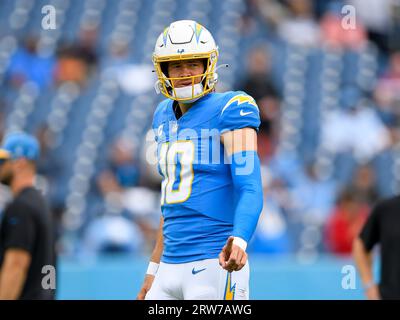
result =
M167 63L177 60L205 59L205 71L202 81L195 84L196 76L182 77L179 79L191 79L192 85L175 88L167 75ZM191 103L209 93L218 79L216 64L218 60L218 47L211 33L202 25L192 20L179 20L164 29L157 39L153 63L157 72L158 81L155 89L167 98Z

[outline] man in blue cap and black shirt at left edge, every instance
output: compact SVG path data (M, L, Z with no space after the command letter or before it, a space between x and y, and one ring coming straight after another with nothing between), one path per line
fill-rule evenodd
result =
M7 135L0 149L0 182L13 195L0 225L1 300L54 298L54 288L42 284L55 254L50 211L34 187L38 156L37 140L25 133Z

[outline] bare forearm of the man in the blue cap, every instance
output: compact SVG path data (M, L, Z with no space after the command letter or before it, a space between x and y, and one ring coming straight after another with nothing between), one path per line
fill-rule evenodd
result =
M0 273L0 300L18 299L24 287L30 263L31 256L25 250L6 251Z

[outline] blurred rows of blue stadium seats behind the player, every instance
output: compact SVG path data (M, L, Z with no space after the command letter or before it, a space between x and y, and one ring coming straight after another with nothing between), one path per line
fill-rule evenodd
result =
M270 2L280 8L277 12L290 12L289 6ZM45 5L56 8L55 30L41 27L41 8ZM323 8L320 15L328 11L328 5L318 6L319 10ZM280 223L286 226L290 243L286 251L314 256L328 250L324 226L330 212L322 220L316 218L312 208L318 205L310 203L310 212L300 213L294 196L293 190L307 177L308 166L313 165L316 172L310 186L313 181L335 185L334 200L326 196L331 199L326 200L331 211L360 164L370 164L380 197L399 191L396 126L384 124L373 99L375 84L388 67L389 55L368 39L356 49L332 48L323 41L317 45L287 42L276 31L285 21L285 14L280 21L269 21L264 13L262 5L257 7L245 0L0 2L2 134L16 130L36 133L42 126L48 130L48 154L58 159L60 170L55 177L44 173L44 178L51 180L47 193L53 208L62 211L61 253L79 252L88 226L107 211L96 181L107 166L115 140L128 138L140 153L147 151L145 137L152 112L161 99L153 91L151 54L156 37L177 19L197 20L215 35L221 52L219 61L230 66L220 70L221 90L234 88L243 78L248 67L246 56L252 48L268 44L270 76L280 98L279 120L270 137L273 151L263 165L266 193L275 197L282 211ZM317 16L312 19L318 26ZM383 140L376 141L375 149L365 151L366 156L357 153L357 140L354 148L332 149L333 144L322 139L332 113L351 117L357 108L373 114L373 119L365 115L366 120L360 120L362 130L375 130L376 121L383 130ZM341 125L344 121L334 127L335 132L347 130ZM151 170L146 164L141 168L144 173ZM131 187L144 186L156 192L154 181L157 178L149 174L148 181L143 179ZM286 202L285 197L291 200ZM277 228L277 220L271 221L268 228L258 230L267 233L266 241L271 239L268 232L273 237ZM263 251L262 245L253 246L253 250L264 253L279 252L275 249Z

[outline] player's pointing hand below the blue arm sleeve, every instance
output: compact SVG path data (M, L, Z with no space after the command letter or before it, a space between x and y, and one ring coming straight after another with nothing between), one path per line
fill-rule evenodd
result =
M229 272L241 270L247 262L247 253L233 244L233 240L233 237L229 237L219 254L220 266Z

